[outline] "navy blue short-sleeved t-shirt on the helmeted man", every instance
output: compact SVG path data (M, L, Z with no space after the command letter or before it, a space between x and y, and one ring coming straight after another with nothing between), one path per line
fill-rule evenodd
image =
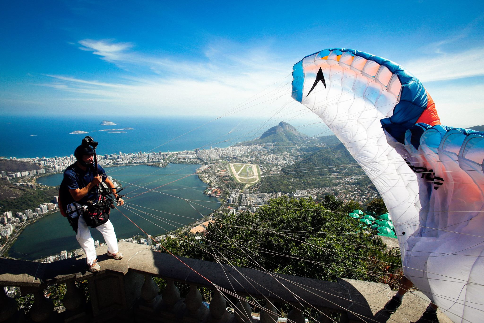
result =
M86 170L82 170L77 166L77 163L72 164L64 171L64 182L68 189L82 189L89 185L89 183L94 180L93 169L89 167ZM102 176L103 182L106 181L106 171L99 165L97 165L98 174ZM69 193L70 194L70 193ZM86 204L88 200L97 200L99 198L96 186L92 187L91 190L86 194L85 197L78 200L79 204Z

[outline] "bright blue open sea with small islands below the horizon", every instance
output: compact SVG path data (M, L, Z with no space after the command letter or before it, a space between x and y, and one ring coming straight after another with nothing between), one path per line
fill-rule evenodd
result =
M103 120L116 125L100 125ZM91 136L99 142L98 154L151 150L173 152L210 148L210 146L224 148L238 141L253 138L247 134L250 129L242 129L242 126L241 131L229 133L240 120L224 118L208 123L211 120L181 117L76 116L67 118L2 115L0 116L2 140L0 156L17 158L66 156L74 153L74 149L85 136ZM112 133L106 131L107 129L124 130L112 130L116 131ZM88 133L70 134L74 131ZM187 132L189 133L185 134ZM177 138L179 136L181 137Z

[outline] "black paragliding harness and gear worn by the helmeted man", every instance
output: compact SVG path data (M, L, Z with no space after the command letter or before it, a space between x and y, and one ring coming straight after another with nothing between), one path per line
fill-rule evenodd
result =
M93 174L94 176L98 176L96 156L96 146L98 145L98 142L94 141L92 137L86 136L84 139L82 139L81 144L91 146L94 149ZM80 177L79 174L77 175ZM67 185L64 183L64 180L62 180L61 187L59 189L59 210L63 216L67 217L69 224L71 225L72 229L76 231L76 233L77 222L79 220L78 215L82 215L84 217L84 220L89 227L98 227L109 220L109 213L111 212L111 209L114 209L114 202L119 202L119 199L121 198L121 195L118 193L116 199L111 196L112 191L103 183L101 183L101 185L97 185L96 190L98 198L96 200L88 200L86 205L81 205L76 203L76 201L72 198ZM121 192L121 190L122 188L119 190L119 192ZM75 208L68 208L67 206L69 204L74 205Z

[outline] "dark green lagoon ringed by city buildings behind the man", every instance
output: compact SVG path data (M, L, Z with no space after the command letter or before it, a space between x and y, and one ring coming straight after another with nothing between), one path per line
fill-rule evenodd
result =
M122 214L116 209L110 214L118 239L145 235L129 219L148 234L156 235L176 230L217 210L220 202L203 194L207 185L194 174L198 167L198 164L168 164L165 168L148 165L106 168L108 175L126 186L121 192L126 194L125 206L120 207ZM59 185L61 180L62 174L54 174L41 177L38 182ZM91 229L91 234L94 240L104 242L96 229ZM77 248L76 234L67 219L56 212L27 226L9 256L36 260Z

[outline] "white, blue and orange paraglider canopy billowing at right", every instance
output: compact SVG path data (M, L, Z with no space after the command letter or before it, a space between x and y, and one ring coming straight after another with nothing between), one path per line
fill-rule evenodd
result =
M388 210L378 235L394 236L394 224L405 276L454 322L481 322L484 133L440 125L422 82L369 53L324 49L294 64L292 76L292 97L377 188Z

